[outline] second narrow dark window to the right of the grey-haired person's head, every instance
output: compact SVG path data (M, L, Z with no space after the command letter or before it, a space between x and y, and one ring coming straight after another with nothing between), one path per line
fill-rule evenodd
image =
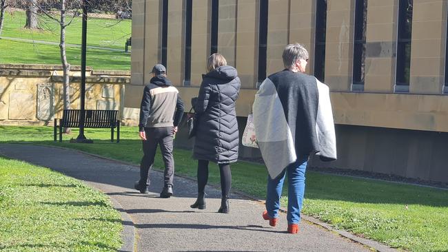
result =
M356 0L352 91L364 91L366 31L367 0Z

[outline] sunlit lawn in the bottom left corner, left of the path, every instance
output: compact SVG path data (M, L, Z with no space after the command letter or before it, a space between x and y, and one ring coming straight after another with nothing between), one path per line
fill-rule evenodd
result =
M120 213L79 180L0 156L0 251L117 251Z

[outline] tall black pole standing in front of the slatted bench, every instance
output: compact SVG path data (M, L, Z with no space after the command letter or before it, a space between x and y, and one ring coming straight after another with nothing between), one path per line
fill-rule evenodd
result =
M79 115L79 136L77 143L86 143L84 136L84 122L85 122L85 54L87 48L87 3L88 0L82 1L83 8L83 26L81 39L81 114Z

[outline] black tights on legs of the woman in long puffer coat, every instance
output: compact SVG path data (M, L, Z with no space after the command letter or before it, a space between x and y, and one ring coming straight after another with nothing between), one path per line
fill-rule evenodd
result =
M221 193L223 198L229 198L230 187L232 187L232 173L230 164L220 164ZM198 160L198 193L204 193L208 180L208 160Z

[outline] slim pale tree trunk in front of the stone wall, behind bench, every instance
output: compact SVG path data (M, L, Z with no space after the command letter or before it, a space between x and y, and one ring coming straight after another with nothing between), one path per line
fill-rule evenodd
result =
M65 54L65 0L61 0L61 37L59 41L59 48L61 48L61 63L63 68L63 107L64 109L70 109L70 64L67 62L67 56ZM70 128L65 128L66 134L70 133Z

